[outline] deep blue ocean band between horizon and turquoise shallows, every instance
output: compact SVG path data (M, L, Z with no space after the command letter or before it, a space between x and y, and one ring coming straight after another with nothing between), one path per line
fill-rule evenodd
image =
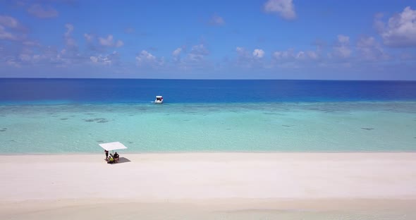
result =
M415 101L416 81L0 78L0 103Z

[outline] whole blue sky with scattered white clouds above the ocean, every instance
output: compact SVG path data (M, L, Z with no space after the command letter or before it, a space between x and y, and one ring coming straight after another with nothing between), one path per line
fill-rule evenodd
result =
M416 1L0 0L0 78L416 80Z

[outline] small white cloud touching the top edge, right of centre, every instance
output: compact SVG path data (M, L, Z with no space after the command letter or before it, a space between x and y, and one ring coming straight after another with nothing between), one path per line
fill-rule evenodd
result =
M264 4L264 11L278 13L287 20L296 18L295 5L292 0L269 0Z

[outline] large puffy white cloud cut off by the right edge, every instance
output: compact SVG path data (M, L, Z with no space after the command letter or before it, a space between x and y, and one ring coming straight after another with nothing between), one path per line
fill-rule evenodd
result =
M416 46L416 10L406 7L402 13L389 18L386 25L380 19L376 19L375 25L384 44L392 47Z

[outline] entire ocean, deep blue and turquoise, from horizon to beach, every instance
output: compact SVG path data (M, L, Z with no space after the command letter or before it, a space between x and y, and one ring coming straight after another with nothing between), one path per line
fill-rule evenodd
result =
M1 154L415 152L415 81L0 78ZM164 104L153 104L156 95Z

